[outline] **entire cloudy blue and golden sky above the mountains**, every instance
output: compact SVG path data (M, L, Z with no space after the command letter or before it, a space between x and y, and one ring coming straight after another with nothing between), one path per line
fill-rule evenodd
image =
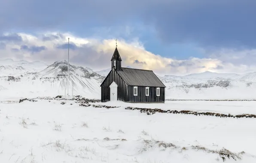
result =
M0 59L161 75L256 71L255 0L0 0Z

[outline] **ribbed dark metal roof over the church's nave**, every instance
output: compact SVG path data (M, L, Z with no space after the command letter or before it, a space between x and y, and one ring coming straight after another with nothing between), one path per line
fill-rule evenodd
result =
M124 68L116 70L127 85L144 87L165 87L151 70Z

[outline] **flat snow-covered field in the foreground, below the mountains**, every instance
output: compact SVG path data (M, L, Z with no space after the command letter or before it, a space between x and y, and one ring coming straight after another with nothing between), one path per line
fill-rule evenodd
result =
M223 158L228 163L256 162L255 118L146 115L125 109L241 114L255 113L253 101L91 103L120 106L110 109L61 102L0 103L0 163L218 163Z

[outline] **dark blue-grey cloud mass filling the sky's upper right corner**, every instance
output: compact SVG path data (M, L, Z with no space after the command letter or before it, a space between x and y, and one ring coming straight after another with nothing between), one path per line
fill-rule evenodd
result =
M255 6L255 0L180 0L152 6L144 18L155 26L164 42L195 42L204 48L255 48ZM155 12L150 12L154 7Z

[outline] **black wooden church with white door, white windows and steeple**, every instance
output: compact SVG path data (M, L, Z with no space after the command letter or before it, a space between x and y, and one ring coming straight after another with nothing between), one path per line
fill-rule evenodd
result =
M121 66L117 47L111 58L111 70L101 84L101 102L165 103L165 85L151 70Z

